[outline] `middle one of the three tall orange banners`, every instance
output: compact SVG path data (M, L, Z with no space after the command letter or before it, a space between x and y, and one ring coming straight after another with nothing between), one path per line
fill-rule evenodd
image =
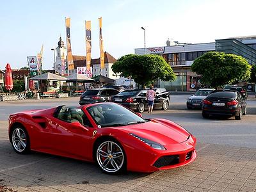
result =
M91 67L91 52L92 52L92 31L91 21L85 21L85 41L86 41L86 70L90 71Z

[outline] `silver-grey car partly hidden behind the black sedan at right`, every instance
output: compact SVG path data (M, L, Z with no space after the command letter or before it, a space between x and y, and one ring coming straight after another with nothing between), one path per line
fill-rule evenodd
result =
M187 108L188 109L195 109L195 108L202 108L202 101L212 93L215 89L200 89L195 94L191 95L187 100Z

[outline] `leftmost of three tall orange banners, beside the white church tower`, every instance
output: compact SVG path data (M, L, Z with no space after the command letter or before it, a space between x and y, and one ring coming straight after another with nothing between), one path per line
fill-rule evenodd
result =
M66 18L66 31L67 31L67 62L68 70L74 70L74 62L71 51L71 42L70 42L70 18Z

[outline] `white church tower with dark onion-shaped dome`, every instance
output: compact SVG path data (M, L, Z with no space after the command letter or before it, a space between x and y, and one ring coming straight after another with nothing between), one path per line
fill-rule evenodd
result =
M60 74L61 76L64 76L66 58L67 58L67 49L64 46L64 42L63 40L61 40L61 36L60 36L58 47L56 47L56 60L54 63L56 74Z

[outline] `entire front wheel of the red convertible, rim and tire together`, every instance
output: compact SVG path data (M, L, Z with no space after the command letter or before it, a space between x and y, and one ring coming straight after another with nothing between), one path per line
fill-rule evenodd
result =
M122 145L114 140L104 140L96 147L96 160L105 173L118 174L126 170L125 152Z

